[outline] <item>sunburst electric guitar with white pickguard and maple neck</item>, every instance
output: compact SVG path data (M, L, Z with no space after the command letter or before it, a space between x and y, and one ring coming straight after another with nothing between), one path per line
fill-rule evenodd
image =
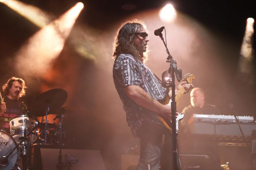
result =
M187 83L192 83L192 80L195 79L195 76L193 74L186 74L183 75L183 79L182 81L186 81ZM175 96L175 101L176 101L176 106L179 104L179 101L182 98L182 95L185 92L185 88L181 87L181 89L179 90L178 94ZM159 101L161 104L164 105L171 105L171 99L169 97L169 88L167 88L166 90L166 94L165 97ZM165 117L163 117L162 115L155 113L155 112L148 112L149 118L156 124L163 126L164 128L166 128L169 131L172 131L172 121L170 119L167 119ZM182 120L184 117L183 113L178 113L178 116L176 118L176 133L178 134L179 128L178 128L178 122L180 120Z

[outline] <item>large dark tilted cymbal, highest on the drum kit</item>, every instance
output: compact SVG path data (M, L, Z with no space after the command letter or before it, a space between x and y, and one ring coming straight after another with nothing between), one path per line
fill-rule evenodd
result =
M45 116L49 106L48 114L57 111L67 100L67 92L61 88L55 88L43 92L32 103L32 110L35 116Z

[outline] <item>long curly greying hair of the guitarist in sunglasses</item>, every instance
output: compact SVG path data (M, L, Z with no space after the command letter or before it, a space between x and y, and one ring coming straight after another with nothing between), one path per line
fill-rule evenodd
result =
M141 32L145 29L147 31L146 24L143 21L134 19L123 23L117 31L115 41L113 44L113 59L115 60L120 54L131 54L136 60L141 60L143 63L147 61L148 56L148 45L147 50L144 53L139 53L133 43L134 33Z

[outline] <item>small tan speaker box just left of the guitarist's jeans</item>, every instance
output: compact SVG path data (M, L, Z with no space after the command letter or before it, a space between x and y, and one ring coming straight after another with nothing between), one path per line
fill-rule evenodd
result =
M121 170L136 170L139 163L139 155L123 154L121 155Z

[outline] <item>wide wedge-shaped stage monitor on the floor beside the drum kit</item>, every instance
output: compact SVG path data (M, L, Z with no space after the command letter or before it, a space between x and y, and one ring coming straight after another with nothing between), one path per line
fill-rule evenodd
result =
M56 170L59 158L59 147L40 146L34 148L33 168L34 170ZM99 150L81 150L62 148L62 167L65 169L106 170ZM63 168L62 168L63 169Z

